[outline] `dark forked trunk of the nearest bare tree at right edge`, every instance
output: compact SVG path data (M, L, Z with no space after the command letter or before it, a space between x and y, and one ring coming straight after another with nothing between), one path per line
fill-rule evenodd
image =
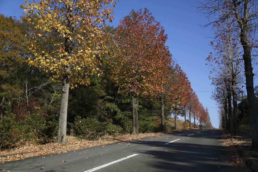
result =
M247 100L249 107L249 116L250 116L250 126L251 126L251 135L252 135L252 149L258 151L258 115L256 109L256 101L254 95L254 74L252 67L252 58L251 58L251 46L249 45L248 40L248 25L249 25L249 13L248 13L248 0L244 0L244 16L240 17L238 13L238 2L237 0L233 1L234 10L239 28L241 29L240 33L240 42L243 46L244 54L243 59L245 62L245 78L246 78L246 92Z

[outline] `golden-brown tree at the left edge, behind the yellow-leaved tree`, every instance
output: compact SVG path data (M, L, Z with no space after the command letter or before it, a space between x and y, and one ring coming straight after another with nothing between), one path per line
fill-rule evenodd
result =
M15 82L15 73L25 62L25 26L12 17L0 14L0 121L6 98L15 98L21 89Z

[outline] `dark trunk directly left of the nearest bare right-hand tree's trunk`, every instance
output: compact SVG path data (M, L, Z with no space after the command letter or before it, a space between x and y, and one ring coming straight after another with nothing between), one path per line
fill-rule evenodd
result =
M235 136L239 136L238 128L238 107L237 107L237 93L236 93L236 75L232 75L232 95L233 95L233 111L234 111L234 121L235 121Z

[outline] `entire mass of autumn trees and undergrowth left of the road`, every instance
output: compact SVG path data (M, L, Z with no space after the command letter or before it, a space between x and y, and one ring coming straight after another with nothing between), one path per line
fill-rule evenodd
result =
M1 149L197 128L196 120L213 128L164 28L147 9L107 25L115 5L41 1L21 5L20 20L0 15Z

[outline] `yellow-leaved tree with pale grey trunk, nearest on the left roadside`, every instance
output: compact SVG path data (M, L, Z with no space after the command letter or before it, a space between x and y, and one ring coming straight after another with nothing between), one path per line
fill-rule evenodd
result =
M25 1L23 21L30 28L27 58L52 80L62 82L57 143L66 143L68 92L77 84L90 84L88 75L100 75L97 67L108 51L103 38L105 22L112 21L116 0ZM48 43L47 43L48 42ZM52 44L50 45L49 42Z

